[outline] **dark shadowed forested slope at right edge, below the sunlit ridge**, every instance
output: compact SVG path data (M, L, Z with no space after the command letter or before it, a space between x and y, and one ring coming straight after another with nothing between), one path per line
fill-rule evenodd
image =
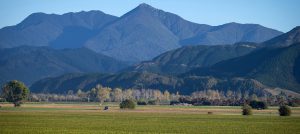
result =
M252 78L270 87L300 92L299 52L300 43L287 47L262 48L208 68L194 69L186 75Z

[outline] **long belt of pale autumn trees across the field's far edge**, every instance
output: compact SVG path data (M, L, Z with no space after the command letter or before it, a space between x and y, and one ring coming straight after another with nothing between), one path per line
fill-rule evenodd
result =
M219 91L202 90L190 95L181 95L179 92L171 93L168 90L156 89L121 89L97 85L83 91L81 89L69 90L65 94L31 93L28 101L32 102L121 102L132 99L137 104L192 104L192 105L217 105L217 106L240 106L251 101L262 101L270 106L300 104L300 99L286 95L284 92L278 95L256 95L248 91ZM2 100L4 101L4 100Z

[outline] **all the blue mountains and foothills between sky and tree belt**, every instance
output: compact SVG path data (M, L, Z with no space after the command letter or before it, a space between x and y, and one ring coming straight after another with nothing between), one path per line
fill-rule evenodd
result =
M298 95L299 33L300 27L283 34L258 24L197 24L147 4L120 17L34 13L0 29L0 84L17 79L46 93L102 84Z

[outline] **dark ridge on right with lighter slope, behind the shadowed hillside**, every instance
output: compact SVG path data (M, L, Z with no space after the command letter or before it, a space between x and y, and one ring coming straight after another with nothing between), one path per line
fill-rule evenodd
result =
M239 42L233 45L185 46L167 51L150 61L135 64L124 71L152 72L159 74L180 74L199 67L209 67L223 60L241 57L254 50L266 52L270 48L287 47L300 42L300 27L262 43ZM257 56L257 55L253 55ZM259 57L258 57L259 58ZM261 56L266 58L266 56Z

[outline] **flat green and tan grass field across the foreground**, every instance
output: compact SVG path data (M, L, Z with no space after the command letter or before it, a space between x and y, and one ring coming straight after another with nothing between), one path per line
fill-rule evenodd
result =
M207 112L213 112L208 115ZM108 111L96 104L2 104L0 134L6 133L300 133L300 108L279 117L277 108L240 115L240 107L142 106Z

